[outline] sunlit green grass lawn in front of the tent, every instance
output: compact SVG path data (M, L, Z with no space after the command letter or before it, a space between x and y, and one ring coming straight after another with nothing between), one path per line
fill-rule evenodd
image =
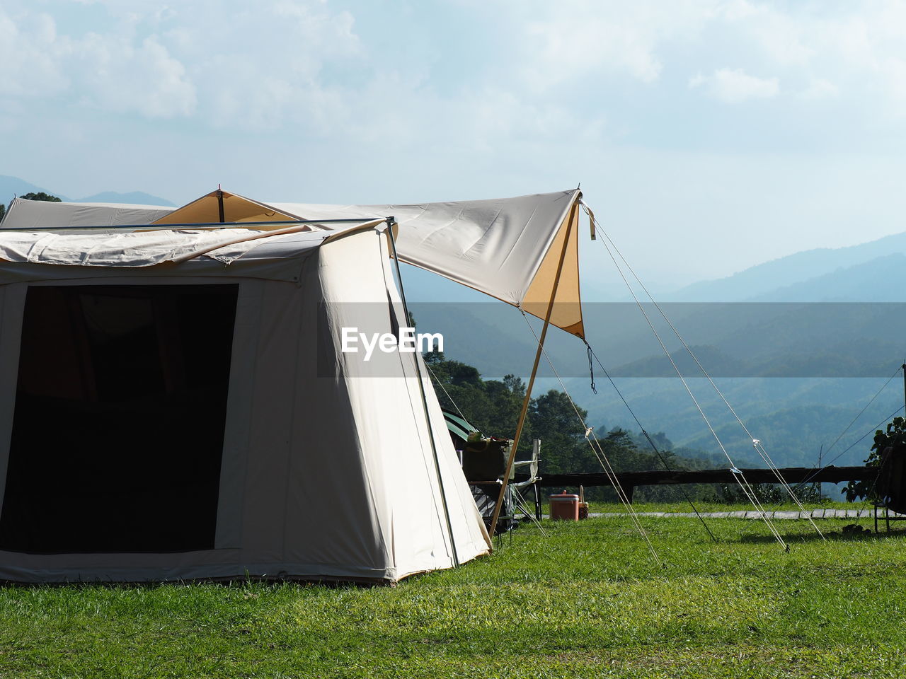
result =
M545 521L395 588L0 588L0 676L899 677L906 540Z

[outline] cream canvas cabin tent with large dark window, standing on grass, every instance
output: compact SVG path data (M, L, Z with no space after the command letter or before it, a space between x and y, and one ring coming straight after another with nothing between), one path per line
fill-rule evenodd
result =
M340 351L402 318L385 223L309 228L0 233L0 579L392 582L489 550L419 355Z

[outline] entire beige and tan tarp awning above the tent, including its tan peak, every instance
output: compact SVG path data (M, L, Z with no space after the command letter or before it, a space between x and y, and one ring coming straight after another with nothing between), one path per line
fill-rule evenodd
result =
M565 245L551 322L578 337L584 335L578 189L493 200L371 206L262 203L227 191L217 194L212 191L176 209L19 200L0 228L260 222L265 224L255 225L255 229L269 230L294 220L366 221L393 216L400 225L400 261L439 273L539 318L545 318ZM328 223L311 225L313 229L332 227Z

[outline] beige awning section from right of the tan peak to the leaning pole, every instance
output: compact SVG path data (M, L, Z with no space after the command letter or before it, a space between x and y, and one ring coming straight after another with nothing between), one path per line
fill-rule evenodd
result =
M578 189L572 189L419 205L268 205L299 219L394 216L400 224L400 261L439 273L539 318L545 318L565 245L551 322L583 337L578 236L581 196Z

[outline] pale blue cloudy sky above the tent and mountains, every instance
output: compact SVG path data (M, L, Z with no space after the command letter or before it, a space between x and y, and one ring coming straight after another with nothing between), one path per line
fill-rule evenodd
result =
M0 174L178 205L581 183L679 287L906 231L904 38L881 0L0 0Z

